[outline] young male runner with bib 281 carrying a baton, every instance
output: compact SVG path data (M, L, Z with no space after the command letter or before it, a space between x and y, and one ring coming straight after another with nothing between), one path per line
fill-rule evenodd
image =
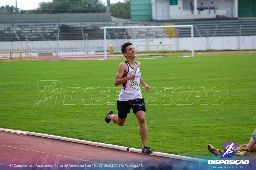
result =
M117 101L117 111L118 114L113 114L110 110L105 117L105 121L109 123L111 120L123 126L127 117L127 113L130 113L132 108L133 113L136 115L138 122L140 124L140 135L142 141L142 151L141 154L150 155L152 151L151 148L147 147L147 125L145 121L145 102L141 95L141 89L139 84L141 84L146 91L150 90L151 87L148 86L141 78L140 62L135 62L135 49L132 43L124 43L121 47L121 51L126 58L125 62L122 62L118 67L118 73L115 77L115 86L122 84L122 89L119 94ZM137 68L136 74L133 75L134 68ZM129 81L133 82L133 89L128 89Z

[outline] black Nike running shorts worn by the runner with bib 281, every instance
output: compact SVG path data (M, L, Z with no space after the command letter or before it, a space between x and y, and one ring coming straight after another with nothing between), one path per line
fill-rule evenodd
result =
M128 101L116 101L117 102L117 111L118 117L124 119L127 117L127 114L130 113L132 108L133 113L136 114L138 111L146 111L144 99L134 99Z

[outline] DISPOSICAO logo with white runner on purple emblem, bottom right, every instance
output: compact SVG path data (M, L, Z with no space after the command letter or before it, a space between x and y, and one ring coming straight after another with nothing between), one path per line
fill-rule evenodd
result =
M222 143L224 148L224 151L221 155L220 158L232 158L234 156L234 150L237 149L237 143L236 142L223 142ZM208 165L209 164L229 164L229 165L247 165L249 164L249 160L208 160Z

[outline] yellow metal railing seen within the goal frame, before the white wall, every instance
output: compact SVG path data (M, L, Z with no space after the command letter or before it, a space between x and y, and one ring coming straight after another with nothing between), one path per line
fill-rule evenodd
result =
M161 51L162 54L164 55L164 51L170 51L170 55L172 55L172 46L175 46L175 51L176 51L176 55L177 55L177 46L176 45L136 45L135 50L136 50L136 54L137 54L137 51L144 51L144 55L146 55L146 51L148 51L149 54L151 53L151 51L157 51L156 53L158 55L159 52ZM143 49L141 49L140 47L143 47ZM147 47L147 49L146 49L146 47ZM166 48L164 48L164 47L168 47L168 50L166 50Z

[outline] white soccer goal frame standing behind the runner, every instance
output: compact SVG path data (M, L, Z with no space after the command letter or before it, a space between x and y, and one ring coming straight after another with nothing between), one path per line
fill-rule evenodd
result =
M107 59L107 38L106 38L106 29L133 29L133 28L146 28L146 29L153 29L153 28L190 28L191 31L191 55L194 57L194 43L193 43L193 37L194 37L194 30L193 25L155 25L155 26L106 26L102 27L104 31L104 59Z

